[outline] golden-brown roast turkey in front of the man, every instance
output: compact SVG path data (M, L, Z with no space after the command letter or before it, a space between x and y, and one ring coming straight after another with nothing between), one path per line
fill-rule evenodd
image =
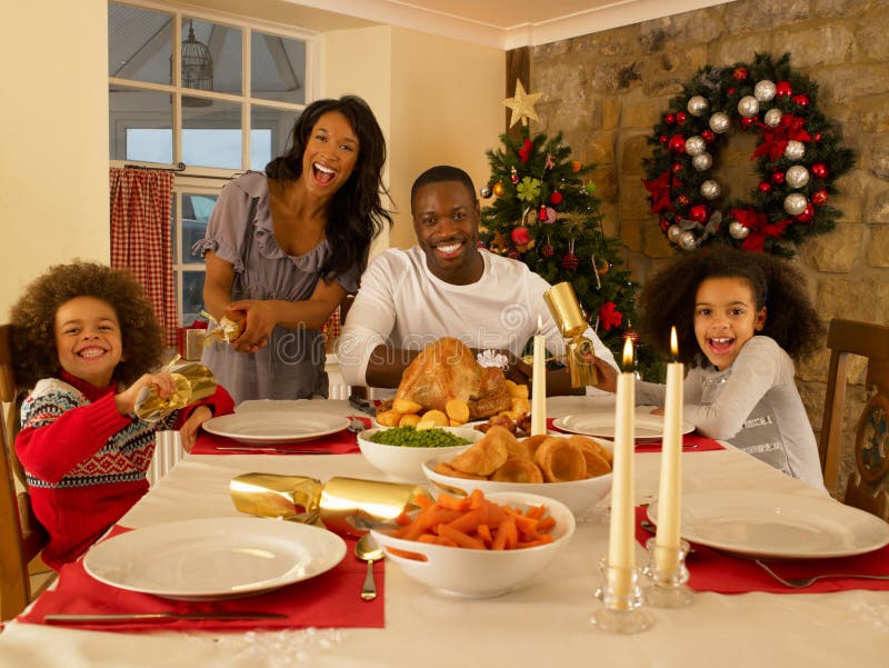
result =
M510 410L503 372L482 367L472 350L458 339L446 337L427 346L404 369L396 399L407 399L423 410L444 411L450 399L469 406L469 419L480 420Z

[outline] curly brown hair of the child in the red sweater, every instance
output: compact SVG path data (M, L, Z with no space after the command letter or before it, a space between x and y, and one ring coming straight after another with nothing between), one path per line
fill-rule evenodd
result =
M118 316L123 359L113 378L129 385L157 368L163 352L160 325L151 303L129 271L77 260L57 265L24 288L10 310L16 382L32 388L41 378L58 377L56 312L76 297L108 302Z

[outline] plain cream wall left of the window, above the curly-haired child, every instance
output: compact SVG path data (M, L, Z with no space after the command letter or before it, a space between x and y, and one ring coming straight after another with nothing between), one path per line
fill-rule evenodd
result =
M107 7L3 4L0 322L47 267L109 260Z

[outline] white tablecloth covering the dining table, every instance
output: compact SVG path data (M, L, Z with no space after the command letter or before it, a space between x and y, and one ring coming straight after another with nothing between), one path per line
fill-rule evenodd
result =
M551 401L549 415L608 410L612 405L610 397L570 398ZM346 401L326 401L323 410L354 415ZM656 499L659 463L657 451L637 453L637 504ZM731 447L686 451L682 469L686 493L823 497ZM120 525L139 529L182 519L238 517L229 481L257 471L320 480L386 479L360 453L189 455ZM578 517L570 544L527 587L496 598L446 596L387 562L384 628L111 632L13 620L0 632L0 666L860 668L889 660L886 590L701 591L688 607L651 609L655 625L645 632L625 636L595 628L590 615L601 605L593 591L600 581L597 565L607 555L608 521L606 498ZM641 545L637 559L647 559Z

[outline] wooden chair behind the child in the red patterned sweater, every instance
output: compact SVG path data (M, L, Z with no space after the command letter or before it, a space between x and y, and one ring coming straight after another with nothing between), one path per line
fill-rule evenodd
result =
M17 492L16 471L21 467L13 440L18 426L18 392L12 371L10 327L0 326L0 401L9 403L9 419L0 410L0 619L12 619L32 596L28 565L47 545L47 534L31 512L28 492ZM22 475L23 478L23 475ZM44 586L49 580L44 582Z

